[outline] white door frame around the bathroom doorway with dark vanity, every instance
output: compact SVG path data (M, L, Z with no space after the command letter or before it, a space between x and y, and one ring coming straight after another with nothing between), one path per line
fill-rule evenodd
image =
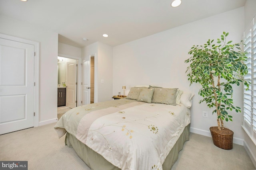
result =
M82 72L82 69L81 69L81 64L82 64L82 59L81 57L75 57L75 56L70 56L70 55L65 55L65 54L61 54L61 53L58 53L58 56L59 57L65 57L65 58L68 58L68 59L74 59L74 60L77 60L78 61L78 66L77 66L77 89L76 89L76 99L77 99L77 104L76 106L81 106L81 72ZM58 57L57 56L57 57Z

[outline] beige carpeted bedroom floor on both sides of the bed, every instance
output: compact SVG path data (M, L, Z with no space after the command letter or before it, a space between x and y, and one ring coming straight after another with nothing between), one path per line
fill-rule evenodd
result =
M0 135L0 160L28 161L29 170L90 170L65 138L58 139L55 123ZM212 138L190 134L171 170L254 170L241 145L223 150L213 145Z

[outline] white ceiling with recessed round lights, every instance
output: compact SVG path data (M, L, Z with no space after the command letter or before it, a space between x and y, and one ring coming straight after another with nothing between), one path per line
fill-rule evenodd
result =
M45 27L59 42L116 46L244 6L246 0L0 0L0 15ZM102 37L102 34L109 37ZM82 38L88 39L83 41Z

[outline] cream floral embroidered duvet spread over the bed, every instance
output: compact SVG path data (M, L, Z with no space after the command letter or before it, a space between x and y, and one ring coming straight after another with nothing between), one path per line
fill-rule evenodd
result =
M183 104L120 99L79 106L55 125L122 170L162 170L164 160L184 128L190 110Z

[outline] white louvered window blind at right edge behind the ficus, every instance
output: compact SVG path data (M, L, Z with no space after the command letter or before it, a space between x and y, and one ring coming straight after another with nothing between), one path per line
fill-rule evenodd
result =
M244 86L243 128L256 144L256 18L244 31L244 52L247 52L248 74L244 79L251 82L249 90Z

